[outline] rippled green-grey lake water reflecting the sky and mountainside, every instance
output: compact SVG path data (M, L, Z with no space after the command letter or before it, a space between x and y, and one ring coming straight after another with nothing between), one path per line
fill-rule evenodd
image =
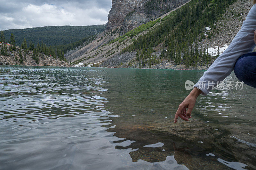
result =
M202 71L0 67L3 169L255 169L256 90L213 90L173 124ZM236 81L234 74L227 80Z

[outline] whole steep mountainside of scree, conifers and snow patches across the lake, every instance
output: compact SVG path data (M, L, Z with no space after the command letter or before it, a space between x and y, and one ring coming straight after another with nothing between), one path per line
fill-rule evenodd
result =
M74 65L206 70L231 43L251 7L245 0L191 0L130 32L122 25L105 31L68 59Z

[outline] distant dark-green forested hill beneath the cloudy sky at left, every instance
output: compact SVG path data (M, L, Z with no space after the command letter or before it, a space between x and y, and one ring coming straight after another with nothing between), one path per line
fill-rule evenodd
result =
M14 34L16 45L20 45L25 38L35 45L44 43L46 46L58 46L73 43L96 35L106 29L106 25L92 26L45 26L26 29L5 30L4 35L9 42L10 34Z

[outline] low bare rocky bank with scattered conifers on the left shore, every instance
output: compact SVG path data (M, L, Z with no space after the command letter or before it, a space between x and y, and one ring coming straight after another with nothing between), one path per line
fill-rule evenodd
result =
M0 43L2 46L2 43ZM0 54L0 65L20 65L20 66L58 66L58 67L69 67L70 64L66 61L60 60L59 58L54 58L54 57L50 57L50 56L46 56L42 53L40 53L38 55L39 60L38 60L38 64L36 63L36 61L34 59L32 59L33 56L33 52L32 51L28 51L28 54L26 54L26 59L25 56L23 54L23 50L21 50L22 52L22 59L23 62L20 62L20 56L19 56L19 47L16 47L16 51L12 51L10 52L10 45L7 44L7 53L8 55L2 55ZM16 58L16 59L15 59Z

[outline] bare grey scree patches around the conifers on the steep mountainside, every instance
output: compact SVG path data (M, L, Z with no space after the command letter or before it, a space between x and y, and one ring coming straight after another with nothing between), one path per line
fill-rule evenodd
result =
M211 32L212 38L208 39L207 35L206 38L199 42L199 46L205 46L205 44L209 43L209 48L217 48L216 46L222 47L225 44L229 45L232 39L235 37L236 33L240 30L244 19L246 18L249 10L252 7L252 2L248 2L247 0L237 0L235 3L229 6L226 12L222 15L217 22L215 22L216 28L210 28L208 30ZM172 10L175 11L176 9ZM170 11L171 12L171 11ZM167 14L161 16L160 18L164 18ZM156 19L155 24L152 27L148 27L148 23L145 24L146 26L142 25L137 30L147 27L142 32L139 32L136 36L130 37L125 36L124 32L121 31L121 27L119 26L116 29L112 30L111 32L103 32L101 33L95 41L93 41L88 46L78 50L76 53L73 53L73 56L69 56L69 60L73 62L73 65L78 63L84 64L84 66L92 63L97 63L99 67L128 67L128 63L130 63L136 57L136 52L133 53L124 53L120 55L121 49L124 49L126 46L130 45L133 39L137 39L140 35L147 33L150 29L154 29L157 25L161 23L161 19ZM153 22L154 22L153 21ZM134 29L136 31L136 29ZM132 30L132 32L135 32ZM128 32L129 33L129 32ZM112 39L115 39L119 36L122 36L121 39L117 39L117 41L108 43ZM106 44L107 43L107 44ZM97 48L94 48L94 47ZM161 44L160 44L161 46ZM160 55L160 46L155 47L155 52L152 54L153 56ZM76 54L76 55L74 55ZM72 58L73 57L73 58ZM190 67L189 69L200 69L206 70L213 62L207 63L206 65L198 65L197 68ZM80 65L82 65L80 64ZM135 68L135 64L129 66L129 68ZM163 60L161 63L152 65L152 68L158 69L185 69L183 64L175 65L173 61Z

